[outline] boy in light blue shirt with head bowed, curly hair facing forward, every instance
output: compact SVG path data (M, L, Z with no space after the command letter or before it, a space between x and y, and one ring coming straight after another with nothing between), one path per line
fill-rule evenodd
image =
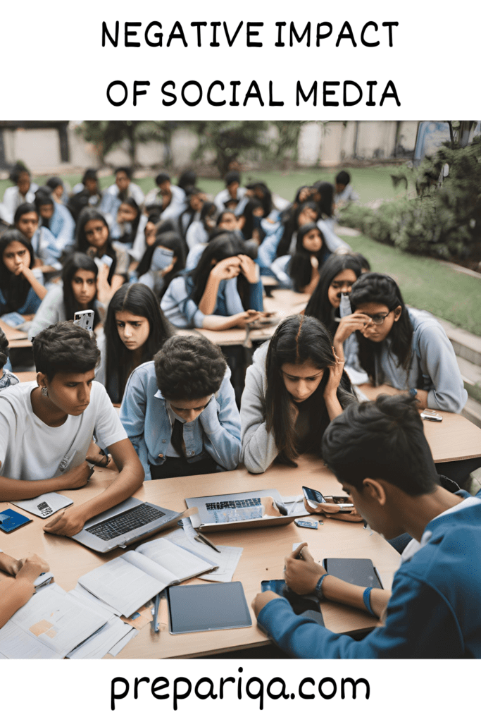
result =
M203 336L172 336L128 379L120 419L146 479L235 469L240 419L231 372Z

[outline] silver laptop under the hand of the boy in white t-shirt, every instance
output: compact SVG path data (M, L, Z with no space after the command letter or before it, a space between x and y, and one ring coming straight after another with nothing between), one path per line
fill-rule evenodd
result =
M94 549L94 552L105 554L173 526L182 516L185 516L185 512L163 509L130 497L108 511L93 516L72 539Z

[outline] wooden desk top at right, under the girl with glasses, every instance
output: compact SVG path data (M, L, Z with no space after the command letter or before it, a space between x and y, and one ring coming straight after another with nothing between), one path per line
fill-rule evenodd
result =
M390 396L402 393L387 384L371 386L369 383L363 383L359 389L368 399L376 399L380 393L389 393ZM441 422L423 421L424 433L435 463L481 456L481 429L461 414L451 414L447 411L439 413L443 417Z

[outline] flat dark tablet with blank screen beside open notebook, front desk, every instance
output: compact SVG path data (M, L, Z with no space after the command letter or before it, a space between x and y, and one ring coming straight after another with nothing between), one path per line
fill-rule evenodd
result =
M206 632L252 627L241 582L167 587L169 632Z

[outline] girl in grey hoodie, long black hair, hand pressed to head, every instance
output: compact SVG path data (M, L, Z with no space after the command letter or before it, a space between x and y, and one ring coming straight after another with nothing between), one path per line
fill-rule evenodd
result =
M320 455L327 425L355 401L332 336L316 318L289 316L247 369L241 402L242 456L253 474L277 459L296 466Z

